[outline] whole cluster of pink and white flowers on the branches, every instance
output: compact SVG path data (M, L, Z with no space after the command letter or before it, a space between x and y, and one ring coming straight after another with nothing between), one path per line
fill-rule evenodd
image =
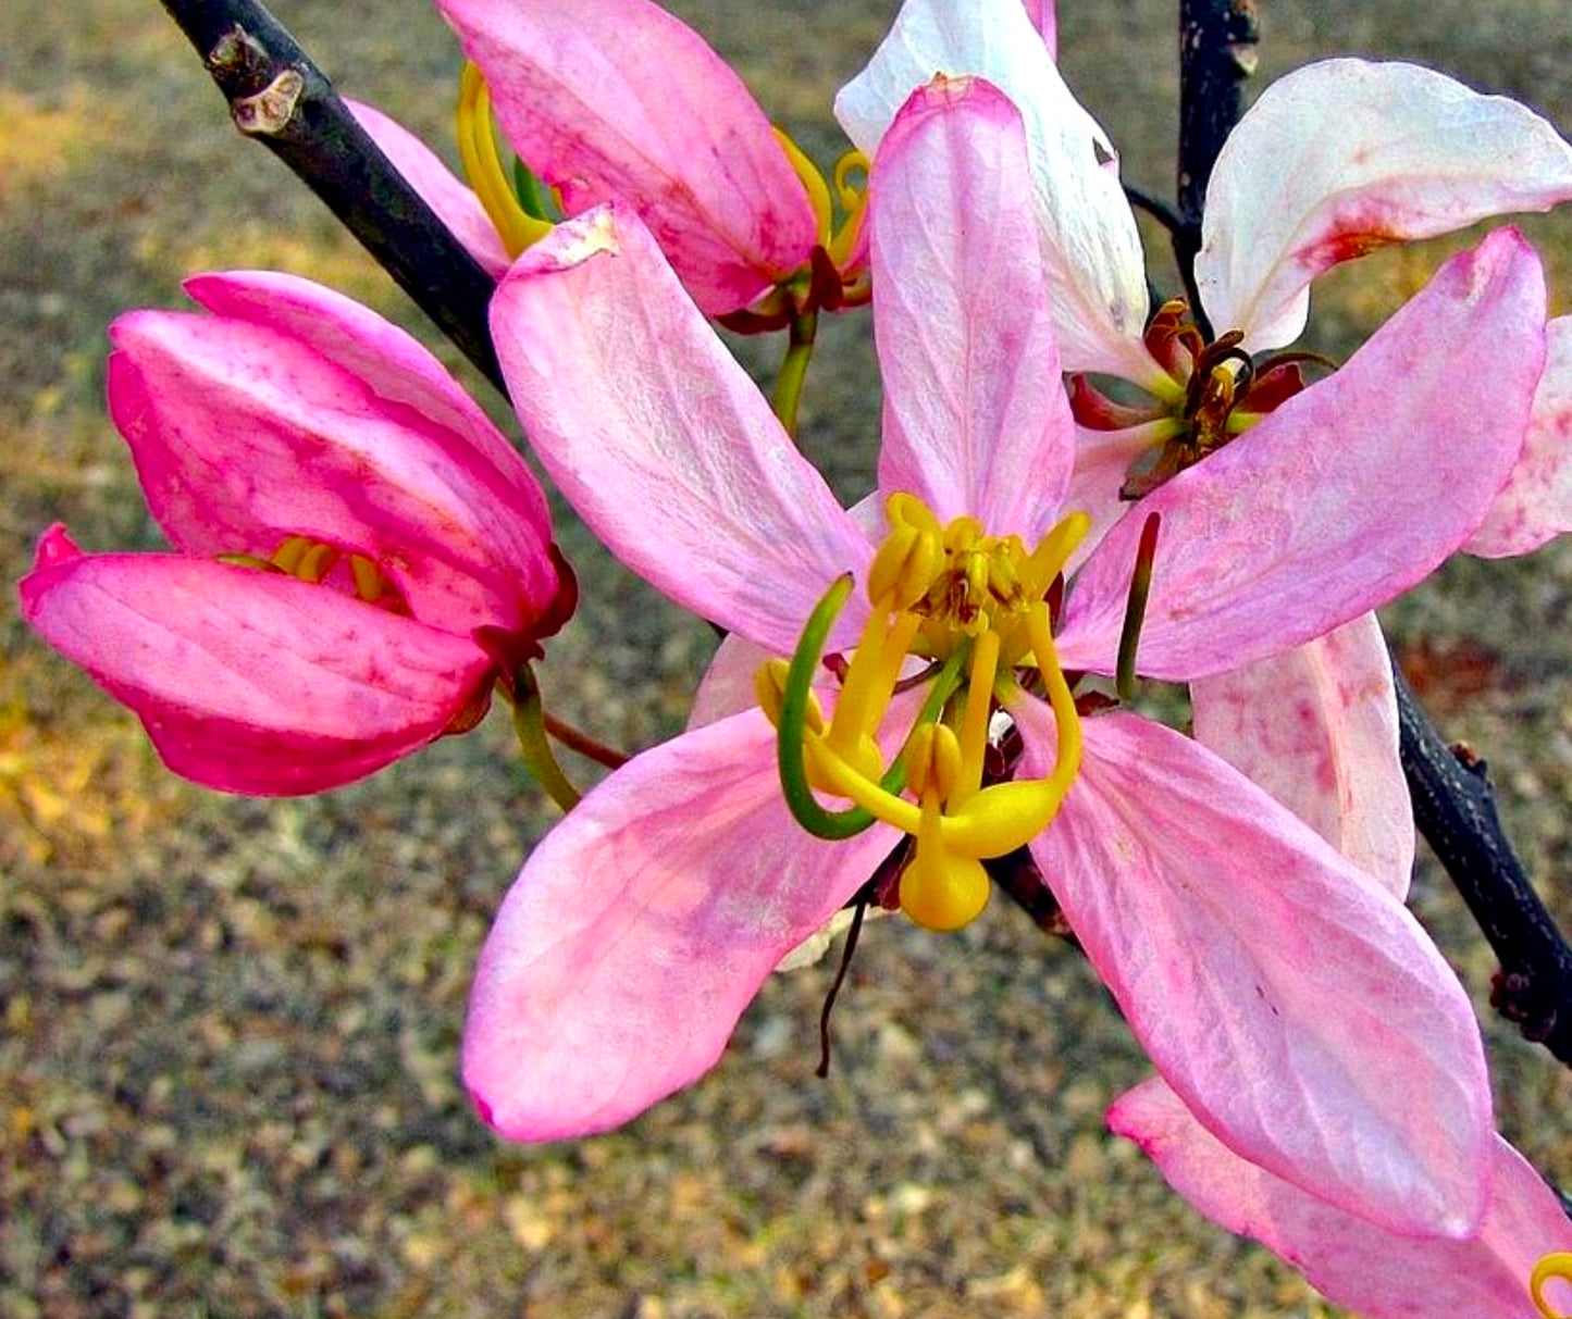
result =
M1572 527L1572 318L1547 325L1503 228L1336 369L1281 349L1333 264L1572 198L1572 148L1421 68L1303 68L1217 160L1203 305L1152 313L1052 3L907 0L836 101L863 187L648 0L439 5L479 71L473 187L357 113L498 275L497 352L561 492L728 632L689 729L509 891L464 1042L484 1118L624 1122L844 907L954 928L1025 847L1157 1069L1110 1126L1182 1195L1369 1316L1553 1313L1572 1225L1495 1133L1468 998L1404 907L1371 610L1459 549ZM487 97L552 214L501 173ZM228 791L330 788L520 701L572 586L508 440L325 289L189 291L208 314L123 318L108 373L176 552L53 528L28 621ZM806 343L868 302L879 490L843 509L791 388L772 406L711 322ZM1188 685L1193 736L1099 685L1132 667Z

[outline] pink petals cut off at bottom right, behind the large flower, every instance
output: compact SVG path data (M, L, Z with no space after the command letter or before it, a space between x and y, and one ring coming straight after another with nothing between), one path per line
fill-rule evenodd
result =
M1424 1102L1423 1091L1409 1093ZM1572 1223L1555 1193L1501 1137L1490 1144L1490 1200L1478 1234L1448 1240L1382 1231L1239 1159L1160 1077L1115 1100L1108 1126L1140 1144L1196 1209L1276 1251L1364 1319L1533 1319L1534 1264L1572 1250ZM1564 1284L1552 1284L1545 1299L1558 1314L1572 1308Z

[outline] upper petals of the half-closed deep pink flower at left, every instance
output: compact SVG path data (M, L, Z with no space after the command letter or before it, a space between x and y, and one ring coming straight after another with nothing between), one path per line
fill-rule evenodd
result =
M214 314L123 316L108 363L110 415L179 549L266 558L308 536L376 561L448 632L541 612L556 574L539 484L429 354L303 280L190 288Z

